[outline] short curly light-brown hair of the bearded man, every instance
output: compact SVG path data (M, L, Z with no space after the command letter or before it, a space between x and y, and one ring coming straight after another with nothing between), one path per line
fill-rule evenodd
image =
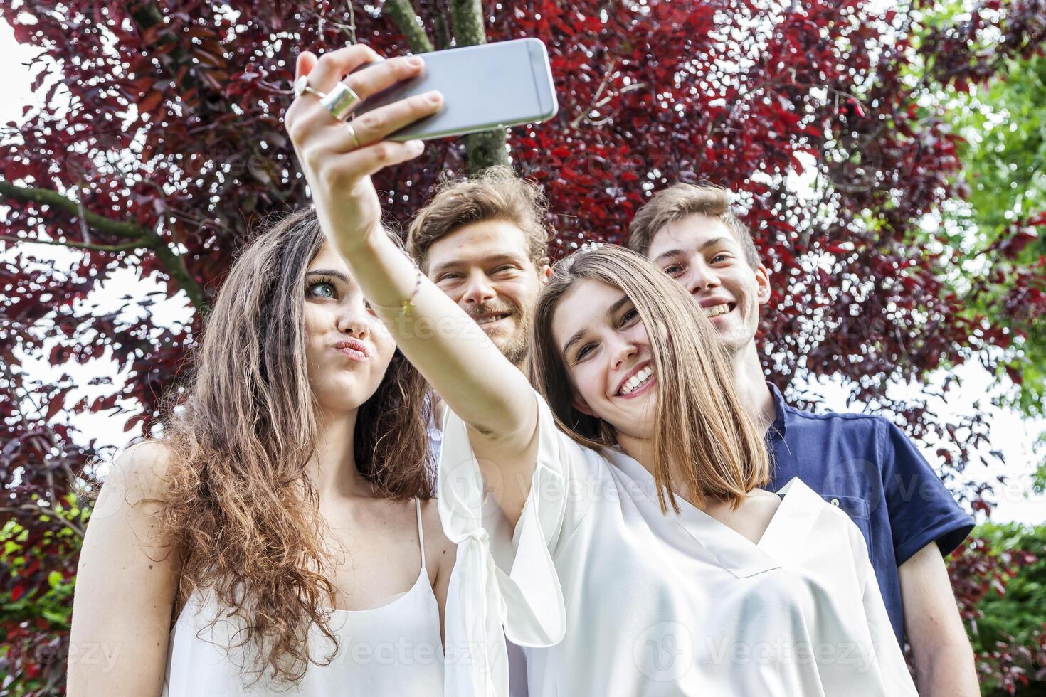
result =
M473 223L504 220L523 231L530 261L536 269L543 269L549 263L551 240L547 211L540 184L518 177L509 167L495 165L474 179L442 182L410 224L407 251L428 273L429 248L434 242Z

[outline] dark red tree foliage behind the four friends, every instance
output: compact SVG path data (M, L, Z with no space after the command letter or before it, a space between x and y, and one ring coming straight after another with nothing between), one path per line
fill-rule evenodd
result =
M414 4L436 46L446 47L446 3ZM996 55L972 55L970 27L945 27L922 49L932 54L934 79L981 80L998 70L999 54L1041 49L1041 2L988 5L1002 5L1010 18L1004 46ZM192 326L170 328L139 298L130 302L143 317L131 324L85 312L77 303L96 281L136 266L169 279L169 296L185 289L192 297L196 286L204 299L265 216L308 203L281 123L295 55L339 47L354 34L386 54L406 50L380 9L353 6L355 16L348 3L325 0L0 4L18 40L65 70L52 72L43 61L35 68L44 108L27 108L25 120L10 124L18 133L0 146L0 186L67 191L85 211L146 229L150 247L165 252L87 250L69 275L46 263L30 268L24 256L21 265L0 265L0 481L8 507L33 496L53 501L68 487L68 472L81 473L94 455L93 442L74 444L62 425L69 413L115 412L118 400L130 399L141 413L128 427L147 433L158 397L199 334L200 313ZM906 15L873 16L864 0L769 9L750 0L536 0L483 9L490 40L537 36L549 47L560 113L513 130L509 143L517 168L546 187L554 256L585 239L623 241L634 211L666 183L730 187L748 207L773 277L763 355L778 384L798 370L848 378L858 399L892 410L913 436L951 439L954 447L940 452L946 477L986 442L980 415L957 432L924 404L884 395L888 380L917 379L1011 340L982 326L967 311L973 304L940 282L939 269L956 263L956 252L915 241L919 218L962 191L953 177L957 137L917 106L918 87L902 79L912 57ZM273 39L277 32L282 38ZM60 110L67 100L72 108ZM406 224L445 169L463 171L463 157L460 142L439 141L384 172L379 188L390 219ZM786 185L805 169L821 175L816 186L797 192ZM126 241L2 189L0 203L10 206L7 235ZM1025 280L1014 286L1014 312L1043 303ZM68 403L73 377L21 384L15 351L39 354L45 346L55 365L112 355L130 379L109 396ZM985 493L969 495L986 507ZM33 535L55 525L27 509L13 515ZM0 589L33 597L51 570L67 578L75 572L75 554L50 552L31 574L7 575ZM969 602L973 591L959 589ZM12 646L22 646L19 633L38 645L52 637L47 628L6 619L3 631ZM8 656L16 672L40 673L32 653L19 651Z

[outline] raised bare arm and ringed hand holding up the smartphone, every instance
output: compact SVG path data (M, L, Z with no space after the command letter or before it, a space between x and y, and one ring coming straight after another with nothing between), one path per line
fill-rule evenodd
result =
M366 46L349 46L318 60L303 52L296 76L308 76L311 88L326 93L349 71L377 61ZM419 61L390 59L343 82L366 99L417 74L423 67ZM344 257L403 353L468 424L487 480L495 473L488 470L496 468L493 479L504 483L495 495L515 522L535 466L538 411L533 392L475 322L388 238L370 181L374 172L412 160L424 149L420 141L399 143L383 138L441 106L438 93L412 97L361 115L350 121L349 130L319 97L306 92L288 110L286 122L327 240ZM411 306L402 312L407 300Z

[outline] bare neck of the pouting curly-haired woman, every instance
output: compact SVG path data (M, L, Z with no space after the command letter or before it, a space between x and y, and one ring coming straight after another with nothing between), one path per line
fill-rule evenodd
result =
M316 416L316 451L309 461L313 485L320 501L325 498L371 498L372 485L356 468L353 452L357 410Z

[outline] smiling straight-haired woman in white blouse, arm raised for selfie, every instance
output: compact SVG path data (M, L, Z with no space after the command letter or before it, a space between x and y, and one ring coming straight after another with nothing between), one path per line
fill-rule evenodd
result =
M297 74L329 91L367 50L302 53ZM305 95L286 122L324 233L450 410L447 644L479 651L448 660L447 694L504 695L507 635L533 696L914 695L860 531L798 479L759 489L761 436L682 286L621 248L560 261L531 389L389 240L370 175L423 152L386 136L440 99L346 129Z

